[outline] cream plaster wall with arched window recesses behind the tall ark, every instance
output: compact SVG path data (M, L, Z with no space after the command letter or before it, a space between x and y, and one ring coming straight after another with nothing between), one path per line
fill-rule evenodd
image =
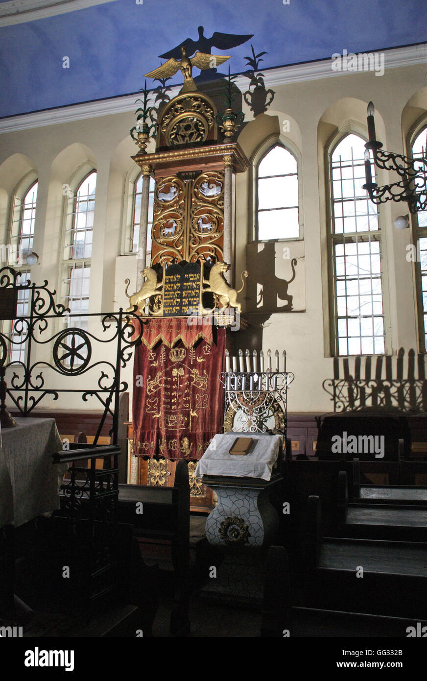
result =
M289 247L291 257L294 257L294 248L298 251L296 257L300 258L297 270L300 268L298 272L304 273L304 280L298 291L289 287L298 306L292 312L274 311L268 315L262 337L264 352L268 348L286 349L287 368L296 375L289 392L289 411L332 409L330 397L322 387L325 379L332 378L328 342L324 147L345 129L349 119L366 134L366 104L372 99L376 108L377 137L385 149L405 153L408 133L427 112L425 76L425 65L410 65L386 70L381 77L371 72L347 73L320 80L289 82L274 86L275 97L270 111L255 121L244 104L249 125L242 129L238 141L249 159L263 140L279 134L283 140L289 140L300 157L303 238L276 247L275 272L276 276L289 279L289 262L277 263L277 256L283 247ZM283 133L285 120L290 123L288 133ZM54 123L52 112L51 125L0 135L0 238L5 240L7 234L9 202L14 187L22 174L35 168L39 193L34 250L41 258L34 268L33 280L48 279L52 288L60 283L62 185L67 182L70 172L76 170L76 165L84 160L96 168L91 312L117 310L120 306L126 308L123 279L128 276L134 282L136 278L136 258L121 253L127 182L133 168L130 156L136 153L135 144L127 136L132 125L131 112L67 124ZM392 174L379 175L381 184L392 179ZM239 281L240 272L247 268L247 244L252 238L251 187L250 170L236 176L234 253ZM413 266L405 258L405 247L412 237L409 229L398 231L393 225L397 215L405 212L405 206L401 204L387 204L381 208L388 353L399 347L406 351L417 350ZM262 274L264 278L268 276L268 272ZM249 276L256 279L257 272L249 272ZM244 304L247 309L255 309L253 301L246 300ZM259 323L256 316L249 315L248 319L255 326ZM127 371L126 378L130 376ZM74 396L69 396L65 402L68 408L84 407L80 398ZM54 402L46 407L54 405L60 406ZM87 407L93 409L95 405Z

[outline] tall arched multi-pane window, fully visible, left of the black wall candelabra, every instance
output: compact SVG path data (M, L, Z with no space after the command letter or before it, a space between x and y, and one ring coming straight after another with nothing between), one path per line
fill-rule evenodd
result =
M362 189L364 151L364 140L351 133L330 154L331 335L336 355L385 352L381 230L377 207Z

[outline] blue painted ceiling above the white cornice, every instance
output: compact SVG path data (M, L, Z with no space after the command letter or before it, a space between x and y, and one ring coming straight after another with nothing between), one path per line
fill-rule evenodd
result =
M141 2L141 0L139 0ZM187 37L253 33L232 73L427 42L426 0L115 0L0 29L0 116L137 92L159 54ZM69 57L69 69L63 68ZM228 64L227 63L227 64ZM225 72L224 67L220 70ZM195 70L195 74L197 74ZM427 73L427 67L426 67ZM180 72L170 82L179 83ZM153 86L158 83L153 84Z

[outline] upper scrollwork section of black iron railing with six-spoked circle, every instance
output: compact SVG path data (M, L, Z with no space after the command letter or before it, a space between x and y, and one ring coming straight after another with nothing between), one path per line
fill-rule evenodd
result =
M122 308L113 313L71 313L54 301L55 291L48 289L47 281L42 285L31 281L22 284L18 283L19 276L10 267L0 270L0 298L3 293L4 300L14 295L16 300L20 291L29 291L27 314L6 316L10 329L0 332L0 366L7 370L7 395L23 416L46 396L58 400L61 394L80 394L84 402L96 398L103 412L94 444L111 415L110 435L115 445L118 399L128 389L121 381L121 370L131 359L133 347L140 343L144 322ZM72 326L74 319L82 317L87 319L87 330ZM67 326L58 329L61 322ZM8 362L10 347L25 347L25 360ZM37 358L40 353L45 358ZM83 376L86 381L82 381ZM55 377L60 379L58 385L54 385Z

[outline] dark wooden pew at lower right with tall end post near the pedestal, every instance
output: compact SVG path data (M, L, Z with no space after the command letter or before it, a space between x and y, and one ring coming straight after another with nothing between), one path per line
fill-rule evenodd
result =
M305 588L309 605L346 612L424 618L427 543L323 537L318 496L307 511ZM396 598L398 594L398 598Z

